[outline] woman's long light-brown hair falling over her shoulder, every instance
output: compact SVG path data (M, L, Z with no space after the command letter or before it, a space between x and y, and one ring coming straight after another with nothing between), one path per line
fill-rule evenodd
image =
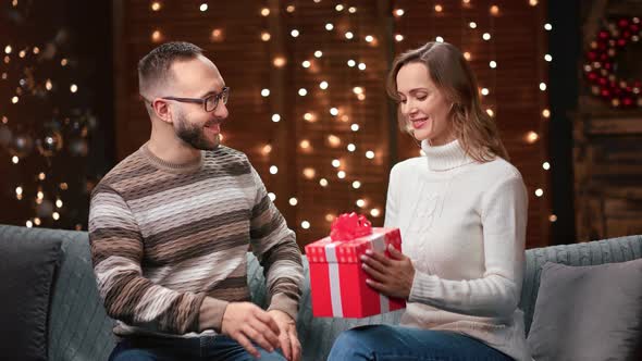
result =
M482 163L495 157L508 160L495 122L481 109L477 79L459 49L447 42L430 41L397 57L386 84L388 95L397 102L397 74L410 63L425 65L432 82L453 102L449 117L455 136L467 154ZM408 121L400 113L397 119L402 132L412 136Z

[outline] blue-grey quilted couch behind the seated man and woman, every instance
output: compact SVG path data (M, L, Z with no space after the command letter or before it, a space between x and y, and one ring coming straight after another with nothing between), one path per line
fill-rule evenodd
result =
M111 333L113 322L104 313L98 297L87 233L0 225L0 246L7 239L34 239L44 242L62 240L62 260L53 282L50 302L49 360L107 360L115 344ZM638 258L642 258L642 236L528 250L520 302L520 308L526 314L527 334L538 297L541 267L546 261L590 265ZM258 304L263 304L266 288L260 265L251 253L248 253L248 282L252 299ZM304 262L307 271L305 259ZM400 316L400 312L392 312L361 320L314 319L308 282L303 292L297 327L304 360L324 360L333 340L344 329L365 324L394 324Z

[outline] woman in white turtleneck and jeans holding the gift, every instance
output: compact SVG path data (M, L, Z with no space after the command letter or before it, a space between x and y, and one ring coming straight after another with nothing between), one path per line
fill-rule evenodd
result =
M454 46L398 57L388 92L425 157L391 171L386 227L404 253L362 258L368 284L408 300L399 326L347 331L330 360L530 360L521 292L528 197Z

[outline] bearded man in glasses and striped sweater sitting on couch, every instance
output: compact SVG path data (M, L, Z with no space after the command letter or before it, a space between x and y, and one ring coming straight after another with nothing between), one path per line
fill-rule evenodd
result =
M220 145L221 74L200 48L170 42L140 60L138 79L150 139L99 183L89 213L98 288L118 320L110 360L298 360L300 251L247 157ZM248 302L249 245L268 311Z

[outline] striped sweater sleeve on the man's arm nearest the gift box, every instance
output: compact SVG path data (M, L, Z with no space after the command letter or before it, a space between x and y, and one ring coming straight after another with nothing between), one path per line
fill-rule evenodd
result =
M250 238L252 252L263 266L270 306L296 320L304 283L301 252L295 234L268 196L257 171L250 165L256 184L251 210Z

